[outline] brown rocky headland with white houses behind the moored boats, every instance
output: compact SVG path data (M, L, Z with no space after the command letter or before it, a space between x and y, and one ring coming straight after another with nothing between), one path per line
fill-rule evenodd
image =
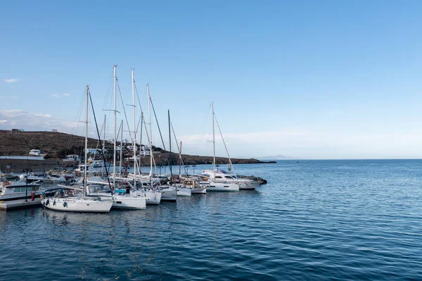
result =
M53 168L53 167L71 167L76 166L76 161L63 161L63 158L69 155L77 155L82 158L84 155L84 137L66 134L63 132L46 132L46 131L22 131L22 130L0 130L0 169L4 170L7 166L11 166L11 170L20 172L25 166L30 163L30 166L34 167L33 170L39 170L41 168ZM120 145L120 144L119 144ZM88 146L90 149L101 148L98 139L88 139ZM124 158L123 164L132 166L133 161L127 159L131 156L130 149L132 144L124 144ZM137 150L139 151L140 146L137 144ZM10 156L32 156L30 151L37 149L41 151L44 156L44 161L27 161L12 159ZM106 142L106 160L111 161L113 156L113 144ZM101 149L99 149L101 151ZM179 154L172 152L170 159L170 151L165 151L160 147L153 146L153 154L155 163L158 166L165 166L167 163L172 165L179 164ZM91 155L95 158L100 158L99 154ZM117 153L119 158L120 153ZM212 164L212 156L198 156L181 154L184 165L200 165L200 164ZM260 161L254 158L243 159L243 158L231 158L231 162L234 164L249 164L249 163L275 163L275 161ZM225 157L216 157L215 163L219 165L225 165L229 163L229 159ZM141 165L149 165L149 156L141 158Z

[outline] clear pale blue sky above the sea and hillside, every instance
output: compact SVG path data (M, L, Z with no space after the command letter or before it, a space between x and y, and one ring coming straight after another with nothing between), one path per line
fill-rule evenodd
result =
M89 85L113 138L117 65L124 139L134 69L146 122L148 84L165 145L170 110L186 154L212 155L213 102L231 157L421 158L421 13L421 1L4 1L0 129L83 135ZM215 144L226 156L217 125Z

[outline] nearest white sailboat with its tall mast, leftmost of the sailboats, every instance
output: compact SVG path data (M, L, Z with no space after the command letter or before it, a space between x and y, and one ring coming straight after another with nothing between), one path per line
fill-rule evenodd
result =
M90 212L108 213L113 200L103 199L100 196L87 196L87 158L88 158L88 91L87 86L87 108L85 112L85 168L84 168L84 189L83 194L80 189L72 187L58 187L49 189L42 193L41 204L45 208L55 211L68 212ZM48 196L46 196L48 194Z

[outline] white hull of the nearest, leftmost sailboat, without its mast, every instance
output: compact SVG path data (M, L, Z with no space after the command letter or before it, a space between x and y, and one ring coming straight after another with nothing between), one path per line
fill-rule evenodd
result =
M44 198L41 199L41 204L54 211L108 213L111 206L113 206L113 201L71 196L65 198Z

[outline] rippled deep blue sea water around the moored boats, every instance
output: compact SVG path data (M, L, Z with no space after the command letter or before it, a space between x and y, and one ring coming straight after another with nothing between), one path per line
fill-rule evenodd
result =
M422 161L234 167L268 184L145 211L0 212L0 280L422 279Z

